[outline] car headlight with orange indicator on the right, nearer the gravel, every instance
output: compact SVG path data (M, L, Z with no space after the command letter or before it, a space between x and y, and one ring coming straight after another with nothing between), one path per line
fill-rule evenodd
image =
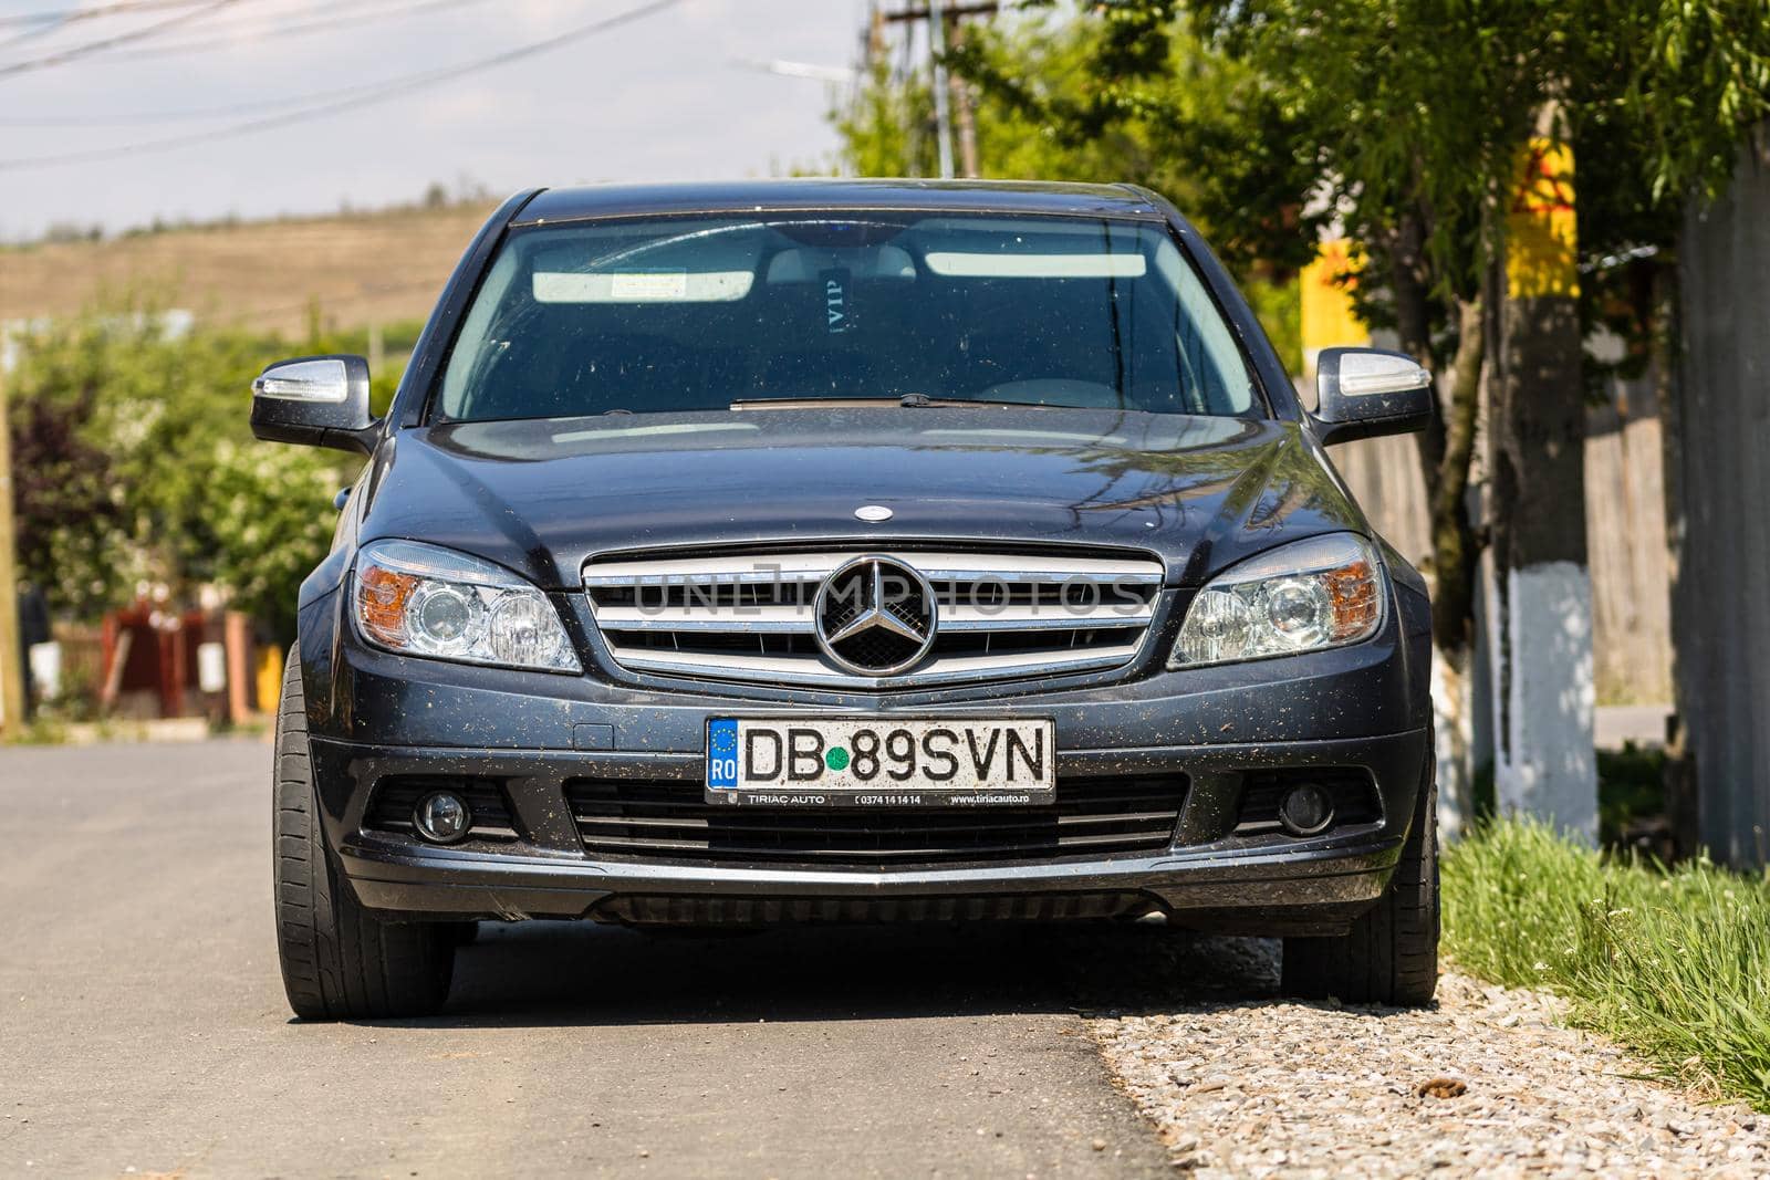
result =
M1356 644L1382 626L1386 601L1382 563L1365 538L1331 533L1281 545L1198 591L1168 667Z

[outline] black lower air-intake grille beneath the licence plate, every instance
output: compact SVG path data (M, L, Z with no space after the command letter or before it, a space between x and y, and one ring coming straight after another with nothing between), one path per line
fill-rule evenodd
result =
M573 778L565 787L598 860L926 865L1158 853L1174 840L1184 777L1060 778L1044 807L720 807L699 782Z

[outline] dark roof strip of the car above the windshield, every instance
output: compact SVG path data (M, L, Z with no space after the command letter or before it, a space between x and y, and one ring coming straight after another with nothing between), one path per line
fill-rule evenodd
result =
M910 209L927 212L1092 214L1159 221L1129 184L1051 180L791 179L697 184L595 184L542 189L512 225L635 214Z

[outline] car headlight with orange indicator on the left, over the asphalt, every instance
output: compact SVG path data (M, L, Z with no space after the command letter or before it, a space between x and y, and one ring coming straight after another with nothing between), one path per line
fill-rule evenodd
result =
M559 612L503 566L418 541L375 541L356 559L358 628L414 656L581 672Z

